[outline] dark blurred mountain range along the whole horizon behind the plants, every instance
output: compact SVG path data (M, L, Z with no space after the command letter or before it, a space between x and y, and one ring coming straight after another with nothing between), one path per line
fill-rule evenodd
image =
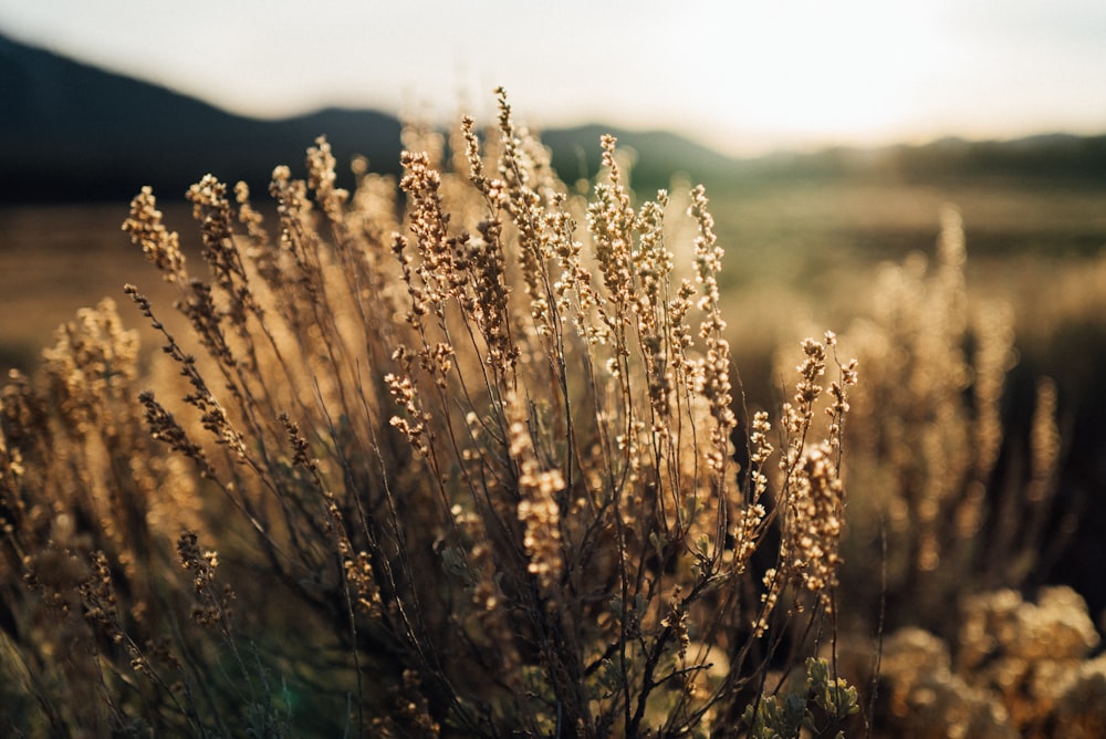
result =
M143 185L179 198L207 173L262 191L274 165L302 173L325 134L340 163L363 154L377 171L399 167L400 124L371 111L326 110L281 121L233 115L157 85L112 74L0 35L0 202L121 200ZM1051 134L1011 142L945 138L922 146L833 147L734 159L665 132L602 125L542 132L568 181L592 176L599 137L636 153L633 181L759 186L794 180L1106 183L1106 135ZM348 184L348 178L344 184Z

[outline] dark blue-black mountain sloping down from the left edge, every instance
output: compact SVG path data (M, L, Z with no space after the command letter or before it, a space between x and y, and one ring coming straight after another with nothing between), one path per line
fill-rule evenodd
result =
M3 37L0 111L0 201L129 198L143 185L177 198L207 173L264 188L278 164L302 171L304 150L324 133L338 162L399 163L393 116L246 118Z

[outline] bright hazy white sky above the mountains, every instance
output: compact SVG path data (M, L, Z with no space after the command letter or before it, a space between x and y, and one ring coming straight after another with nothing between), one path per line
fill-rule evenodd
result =
M1106 132L1106 0L0 0L0 32L238 113L664 127L732 154Z

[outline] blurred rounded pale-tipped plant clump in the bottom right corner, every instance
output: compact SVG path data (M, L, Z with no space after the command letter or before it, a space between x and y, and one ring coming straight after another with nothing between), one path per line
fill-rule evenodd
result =
M886 644L887 730L904 737L1100 737L1106 655L1086 603L1068 587L1036 603L1014 591L964 601L949 643L917 627Z

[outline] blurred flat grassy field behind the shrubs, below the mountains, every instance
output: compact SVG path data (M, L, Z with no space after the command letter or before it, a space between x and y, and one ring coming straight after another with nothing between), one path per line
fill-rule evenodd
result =
M1087 418L1106 402L1094 382L1106 366L1106 348L1099 351L1106 331L1106 189L723 183L708 186L708 197L727 252L722 281L737 363L755 395L771 393L764 373L780 341L811 323L843 330L870 310L869 288L881 263L911 251L932 257L941 206L953 204L964 219L971 295L1013 308L1021 372L1058 379L1066 403ZM163 208L195 254L190 207L170 200ZM0 208L4 365L29 368L59 324L105 295L123 305L128 325L142 327L137 310L125 304L126 282L170 304L170 291L119 230L125 218L126 204Z

